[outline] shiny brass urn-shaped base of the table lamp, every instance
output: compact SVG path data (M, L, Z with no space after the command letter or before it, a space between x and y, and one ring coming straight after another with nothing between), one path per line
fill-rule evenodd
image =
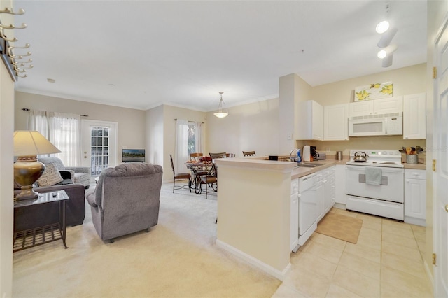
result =
M20 156L14 163L14 180L22 185L20 194L15 199L34 199L37 197L33 191L33 184L42 176L45 165L37 161L36 155Z

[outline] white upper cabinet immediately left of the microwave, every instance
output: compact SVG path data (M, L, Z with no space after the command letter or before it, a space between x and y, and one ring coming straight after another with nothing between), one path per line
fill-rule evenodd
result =
M323 107L323 140L349 139L349 104Z

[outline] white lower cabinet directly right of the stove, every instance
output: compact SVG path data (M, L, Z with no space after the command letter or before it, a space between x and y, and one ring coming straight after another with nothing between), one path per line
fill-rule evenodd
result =
M426 171L405 169L405 222L426 226Z

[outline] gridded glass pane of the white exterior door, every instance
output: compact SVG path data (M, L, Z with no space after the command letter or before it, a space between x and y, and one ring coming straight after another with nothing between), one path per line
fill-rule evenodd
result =
M109 127L90 127L90 169L92 176L97 176L109 166Z

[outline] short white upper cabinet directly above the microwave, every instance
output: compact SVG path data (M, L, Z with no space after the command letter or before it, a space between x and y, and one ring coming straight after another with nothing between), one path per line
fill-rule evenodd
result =
M349 104L349 117L401 113L402 111L403 97L357 101Z

